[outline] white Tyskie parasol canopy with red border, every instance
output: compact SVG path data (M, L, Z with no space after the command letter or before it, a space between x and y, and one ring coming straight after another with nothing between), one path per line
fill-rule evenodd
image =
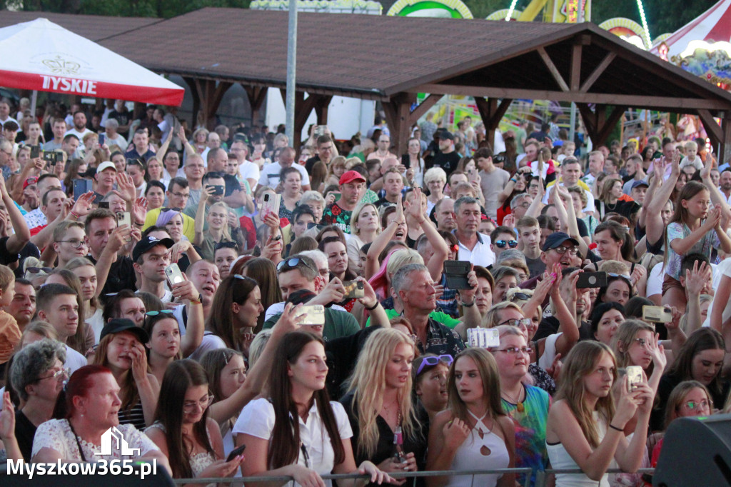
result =
M45 18L0 29L0 85L181 105L185 90Z

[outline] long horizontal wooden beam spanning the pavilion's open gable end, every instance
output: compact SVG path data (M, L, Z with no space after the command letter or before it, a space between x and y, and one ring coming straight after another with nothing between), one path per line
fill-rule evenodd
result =
M586 84L586 82L585 82ZM652 97L610 93L577 93L576 91L529 90L519 88L495 88L488 86L459 86L423 84L409 88L410 93L458 94L470 97L552 99L557 102L596 103L599 105L626 105L683 113L683 110L708 109L711 112L731 110L731 102L719 99Z

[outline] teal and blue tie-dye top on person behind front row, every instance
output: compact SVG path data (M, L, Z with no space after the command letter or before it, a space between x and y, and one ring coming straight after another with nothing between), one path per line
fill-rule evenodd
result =
M546 423L551 399L548 393L532 385L523 385L526 399L523 401L523 412L518 406L502 399L502 407L515 424L515 467L531 467L531 486L535 485L536 472L545 470L548 464L546 452ZM524 485L525 475L515 479Z

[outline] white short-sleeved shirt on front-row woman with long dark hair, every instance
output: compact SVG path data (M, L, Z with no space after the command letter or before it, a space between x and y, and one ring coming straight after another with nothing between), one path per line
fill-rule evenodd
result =
M351 438L353 431L343 405L330 401L330 408L333 409L341 439ZM239 433L244 433L250 434L252 437L270 439L274 429L274 420L274 407L268 399L256 399L243 408L233 426L232 434L234 437ZM327 434L327 429L322 424L322 418L317 411L317 404L312 404L306 422L299 416L298 420L300 421L300 442L307 450L309 468L319 475L330 474L335 467L335 452L330 444L330 435ZM276 448L276 445L274 446ZM272 445L270 445L271 447ZM301 449L297 463L306 467L306 460ZM287 485L292 486L294 483L290 482ZM332 486L332 480L325 480L325 485Z

